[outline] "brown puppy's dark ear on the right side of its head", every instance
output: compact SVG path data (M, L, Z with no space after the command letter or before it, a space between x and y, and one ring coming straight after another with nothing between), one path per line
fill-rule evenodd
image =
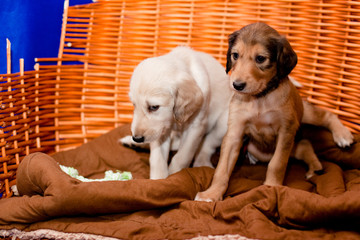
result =
M297 64L297 55L285 37L278 41L277 76L282 79L290 74Z

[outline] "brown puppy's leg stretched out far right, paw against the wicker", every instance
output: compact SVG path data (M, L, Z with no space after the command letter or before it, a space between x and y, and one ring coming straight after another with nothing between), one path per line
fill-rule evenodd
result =
M303 105L303 123L326 127L332 132L334 141L339 147L348 147L354 142L354 136L350 130L340 122L335 114L318 108L307 101L303 101Z

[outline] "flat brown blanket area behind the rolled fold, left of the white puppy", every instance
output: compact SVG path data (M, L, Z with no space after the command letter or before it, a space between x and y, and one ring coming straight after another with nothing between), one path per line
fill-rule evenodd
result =
M121 170L131 172L133 179L149 179L149 154L119 144L122 136L130 134L130 125L124 125L52 157L61 165L76 168L86 178L103 178L106 170Z

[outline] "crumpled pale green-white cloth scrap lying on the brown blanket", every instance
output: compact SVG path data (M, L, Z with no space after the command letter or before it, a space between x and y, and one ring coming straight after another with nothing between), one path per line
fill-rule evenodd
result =
M105 177L101 178L101 179L89 179L89 178L85 178L83 176L79 175L78 170L76 170L73 167L66 167L66 166L62 166L60 165L61 170L63 170L65 173L67 173L68 175L70 175L73 178L76 178L82 182L101 182L101 181L126 181L126 180L131 180L132 179L132 175L131 172L121 172L121 171L116 171L113 172L112 170L108 170L105 172Z

